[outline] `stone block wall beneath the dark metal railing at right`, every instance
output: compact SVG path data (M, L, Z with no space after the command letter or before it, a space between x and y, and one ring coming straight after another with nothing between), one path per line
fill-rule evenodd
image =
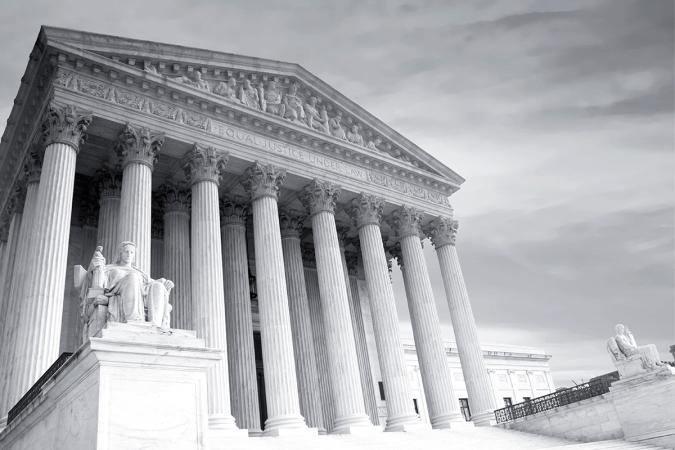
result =
M611 394L523 417L502 427L583 442L624 437Z

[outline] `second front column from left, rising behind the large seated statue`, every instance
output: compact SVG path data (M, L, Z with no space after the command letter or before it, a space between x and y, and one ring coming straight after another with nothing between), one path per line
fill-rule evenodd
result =
M136 266L147 274L152 255L152 169L163 143L164 134L127 123L116 144L123 170L117 239L136 244Z

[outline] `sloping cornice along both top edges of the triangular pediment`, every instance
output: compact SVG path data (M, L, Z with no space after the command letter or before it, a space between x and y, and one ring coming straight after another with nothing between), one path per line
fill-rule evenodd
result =
M50 47L61 49L75 57L99 59L98 62L104 66L108 65L104 60L115 62L118 68L124 65L128 68L140 66L140 70L145 64L162 64L169 68L170 76L178 77L196 69L204 75L215 77L213 81L216 82L226 81L232 72L239 72L237 77L242 77L240 79L243 79L244 73L254 80L257 75L260 81L274 77L286 78L283 80L286 85L295 79L304 84L301 86L301 92L306 92L303 97L317 96L327 105L329 111L332 103L334 111L342 110L345 119L354 119L356 123L360 122L370 128L373 134L369 139L372 140L379 134L385 145L387 141L391 141L386 151L396 152L396 148L400 147L399 151L410 153L420 163L451 181L455 189L464 181L443 163L298 64L54 27L43 27L40 36ZM100 56L101 54L104 56ZM126 64L119 62L121 60L126 61ZM345 128L349 126L347 120L344 124Z

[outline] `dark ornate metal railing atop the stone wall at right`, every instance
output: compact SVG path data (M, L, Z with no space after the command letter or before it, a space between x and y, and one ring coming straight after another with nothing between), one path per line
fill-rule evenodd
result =
M495 419L497 423L510 422L521 417L530 416L542 411L554 409L559 406L569 405L570 403L586 400L591 397L606 394L609 392L609 386L613 380L608 378L598 378L588 383L561 389L550 394L542 395L522 403L507 406L495 410Z

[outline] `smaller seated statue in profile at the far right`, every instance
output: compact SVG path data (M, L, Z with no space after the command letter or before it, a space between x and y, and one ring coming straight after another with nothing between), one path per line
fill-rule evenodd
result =
M607 351L621 378L663 366L654 344L638 346L633 333L623 324L617 324L615 330L616 335L607 340Z

